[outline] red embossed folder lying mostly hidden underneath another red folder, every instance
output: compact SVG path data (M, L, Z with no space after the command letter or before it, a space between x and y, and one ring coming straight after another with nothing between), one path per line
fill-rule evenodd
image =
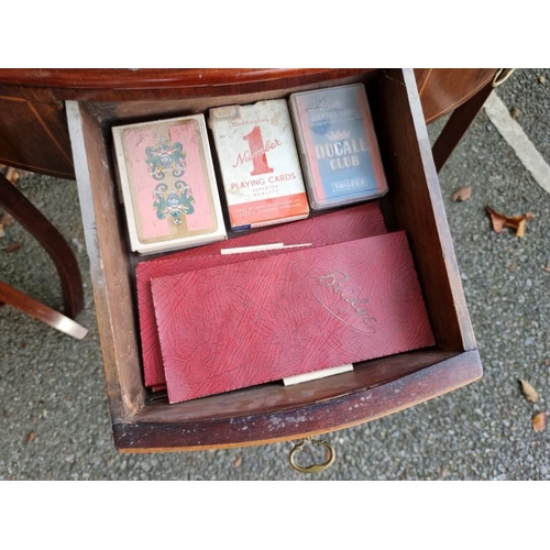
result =
M176 252L168 257L141 262L135 268L135 274L145 385L153 389L165 389L166 385L151 294L151 279L211 267L221 263L243 262L251 257L279 253L279 251L270 251L221 255L221 251L227 252L227 249L273 243L285 245L331 244L385 232L386 227L378 204L369 202L345 210L337 210L322 217L274 226L230 241ZM282 252L284 251L285 249Z

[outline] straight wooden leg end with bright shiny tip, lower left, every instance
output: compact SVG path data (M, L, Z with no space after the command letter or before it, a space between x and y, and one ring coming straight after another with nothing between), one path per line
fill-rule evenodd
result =
M68 334L69 337L81 340L88 333L88 329L78 324L73 319L65 317L63 314L55 311L41 301L26 296L10 285L2 283L0 280L0 300L4 304L13 306L14 308L23 311L23 314L30 315L35 319L38 319L46 324L50 324L54 329L61 330Z

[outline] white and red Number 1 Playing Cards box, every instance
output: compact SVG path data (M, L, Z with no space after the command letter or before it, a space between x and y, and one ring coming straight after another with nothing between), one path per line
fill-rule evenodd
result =
M286 100L210 109L231 229L307 218L308 199Z

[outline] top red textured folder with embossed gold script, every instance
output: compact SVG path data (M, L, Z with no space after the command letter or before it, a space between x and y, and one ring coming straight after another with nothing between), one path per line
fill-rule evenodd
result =
M435 344L403 231L151 286L170 403Z

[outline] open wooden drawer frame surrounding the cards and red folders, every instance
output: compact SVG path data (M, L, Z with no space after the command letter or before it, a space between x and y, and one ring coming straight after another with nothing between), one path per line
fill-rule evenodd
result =
M299 439L354 426L457 389L482 375L413 70L304 69L261 82L239 78L174 98L68 101L114 442L121 451L201 450ZM235 72L237 73L237 72ZM143 385L134 268L112 163L111 127L365 84L389 191L388 230L406 230L437 345L367 361L295 386L272 383L169 405ZM216 160L215 160L216 162ZM322 215L321 215L322 216Z

